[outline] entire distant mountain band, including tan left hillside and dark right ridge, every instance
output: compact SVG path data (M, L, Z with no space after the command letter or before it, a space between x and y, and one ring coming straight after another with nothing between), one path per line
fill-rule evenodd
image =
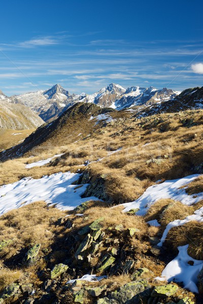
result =
M128 109L139 117L161 112L174 112L203 107L203 88L190 88L182 93L172 89L132 86L124 89L110 84L88 95L70 94L60 85L46 91L6 96L0 91L0 128L25 130L38 128L60 117L78 102L93 103L100 108Z

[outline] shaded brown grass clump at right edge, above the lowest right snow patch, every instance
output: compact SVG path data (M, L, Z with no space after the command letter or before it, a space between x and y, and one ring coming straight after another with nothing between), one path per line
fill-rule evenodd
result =
M167 244L174 249L189 244L188 254L195 259L203 259L203 223L190 221L182 226L172 228L167 235Z

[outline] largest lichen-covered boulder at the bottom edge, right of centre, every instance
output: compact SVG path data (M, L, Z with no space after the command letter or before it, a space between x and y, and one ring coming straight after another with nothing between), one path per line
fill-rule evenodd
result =
M116 291L111 292L108 298L116 300L118 304L141 304L149 298L149 288L150 285L147 280L134 281L126 283Z

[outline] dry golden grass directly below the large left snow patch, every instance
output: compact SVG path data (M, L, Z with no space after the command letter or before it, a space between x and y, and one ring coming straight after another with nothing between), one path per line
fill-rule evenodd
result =
M39 243L42 248L47 248L53 241L53 233L56 231L55 222L64 214L56 208L48 208L44 202L36 202L2 215L1 241L12 240L12 242L1 250L0 256L10 258L21 247Z

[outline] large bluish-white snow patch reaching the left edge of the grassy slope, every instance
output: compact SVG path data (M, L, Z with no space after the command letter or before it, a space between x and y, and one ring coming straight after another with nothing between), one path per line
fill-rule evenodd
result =
M96 197L81 198L88 184L73 185L81 174L55 173L40 179L23 178L0 187L0 215L37 201L56 204L60 210L73 210L80 204L98 200Z

